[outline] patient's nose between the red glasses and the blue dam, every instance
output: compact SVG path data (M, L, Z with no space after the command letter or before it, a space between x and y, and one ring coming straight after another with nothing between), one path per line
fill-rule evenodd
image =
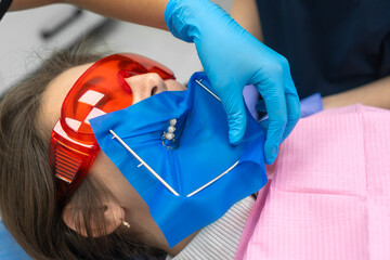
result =
M132 76L127 78L126 81L129 83L133 92L133 103L167 91L165 81L158 76L158 74L155 73Z

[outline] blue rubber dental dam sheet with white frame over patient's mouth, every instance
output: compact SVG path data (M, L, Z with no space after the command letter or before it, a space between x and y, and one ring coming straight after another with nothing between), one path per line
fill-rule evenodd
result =
M171 247L222 217L266 183L265 131L247 109L239 145L226 114L196 73L166 91L90 120L102 151L148 205Z

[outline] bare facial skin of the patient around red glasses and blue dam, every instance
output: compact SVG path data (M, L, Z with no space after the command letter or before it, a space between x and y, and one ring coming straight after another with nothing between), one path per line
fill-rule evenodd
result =
M38 118L46 131L46 134L49 135L51 133L52 128L58 120L62 103L66 94L76 80L92 64L86 64L73 67L54 78L49 83L42 95L41 109ZM164 91L185 90L185 87L178 81L172 79L162 80L157 74L132 76L126 80L133 92L133 103L140 102ZM133 218L136 219L134 220L135 223L152 221L147 205L103 152L98 154L98 157L88 174L106 184L121 207L123 207L126 211L129 211L126 212L126 214L129 213L129 216L133 216ZM133 212L138 212L138 214L134 214ZM132 222L131 219L127 220Z

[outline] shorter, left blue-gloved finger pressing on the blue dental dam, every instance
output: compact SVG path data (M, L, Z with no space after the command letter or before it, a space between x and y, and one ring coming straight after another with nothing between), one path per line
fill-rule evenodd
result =
M226 89L233 88L226 86ZM238 98L234 93L224 93L224 95L220 94L219 98L221 99L223 108L227 114L229 140L231 144L239 144L244 138L247 126L244 98Z

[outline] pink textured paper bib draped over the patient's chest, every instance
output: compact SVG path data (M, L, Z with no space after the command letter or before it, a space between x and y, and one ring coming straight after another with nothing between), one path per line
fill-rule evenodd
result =
M390 259L390 110L324 110L280 151L236 259Z

